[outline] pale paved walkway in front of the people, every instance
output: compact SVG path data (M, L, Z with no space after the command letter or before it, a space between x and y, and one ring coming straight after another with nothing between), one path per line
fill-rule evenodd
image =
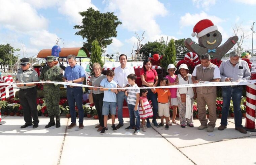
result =
M39 117L38 128L24 128L23 117L2 116L0 125L0 164L2 165L156 165L156 164L256 164L256 132L242 134L234 129L234 119L228 119L224 131L214 136L197 127L181 128L173 125L169 130L148 128L137 135L124 128L113 132L111 125L101 135L94 128L98 120L84 118L84 129L67 129L70 120L62 116L60 128L45 128L47 117ZM108 120L108 123L111 121ZM115 123L117 123L117 119ZM158 120L159 122L159 120ZM245 124L243 119L243 125ZM194 120L199 126L199 121Z

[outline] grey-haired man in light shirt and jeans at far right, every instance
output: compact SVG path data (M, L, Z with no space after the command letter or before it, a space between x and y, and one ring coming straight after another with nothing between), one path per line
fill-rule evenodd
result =
M241 52L234 50L229 55L230 59L220 64L220 77L222 81L249 80L251 72L246 61L241 60ZM221 125L218 130L224 130L227 126L227 116L232 97L234 106L235 129L241 133L247 133L242 125L242 112L240 108L243 86L222 86L223 108Z

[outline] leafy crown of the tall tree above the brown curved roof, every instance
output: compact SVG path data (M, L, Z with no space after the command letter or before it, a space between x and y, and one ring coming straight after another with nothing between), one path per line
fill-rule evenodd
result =
M88 51L91 51L94 40L99 42L101 48L110 45L112 43L110 38L117 36L116 27L122 24L113 12L101 13L92 7L88 8L87 11L79 12L79 14L84 18L82 19L82 25L74 26L74 29L79 29L75 34L87 39L86 42L83 42L83 46Z

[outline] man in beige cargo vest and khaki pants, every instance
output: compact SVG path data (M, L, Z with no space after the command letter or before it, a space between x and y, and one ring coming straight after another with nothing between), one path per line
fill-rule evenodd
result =
M194 84L202 82L220 81L220 70L217 65L210 62L211 57L208 53L201 55L201 64L196 65L192 73ZM216 86L214 87L196 87L198 119L201 125L199 130L207 128L207 132L212 132L215 127L216 117ZM206 105L209 110L209 123L206 117Z

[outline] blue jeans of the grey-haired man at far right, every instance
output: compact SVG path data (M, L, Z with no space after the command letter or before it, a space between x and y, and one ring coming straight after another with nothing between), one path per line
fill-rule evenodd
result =
M221 125L227 126L227 116L229 112L230 99L232 97L233 106L234 106L234 119L235 127L242 128L242 112L241 112L241 97L242 97L243 86L223 86L222 87L222 97L223 97L223 108L222 108L222 117Z

